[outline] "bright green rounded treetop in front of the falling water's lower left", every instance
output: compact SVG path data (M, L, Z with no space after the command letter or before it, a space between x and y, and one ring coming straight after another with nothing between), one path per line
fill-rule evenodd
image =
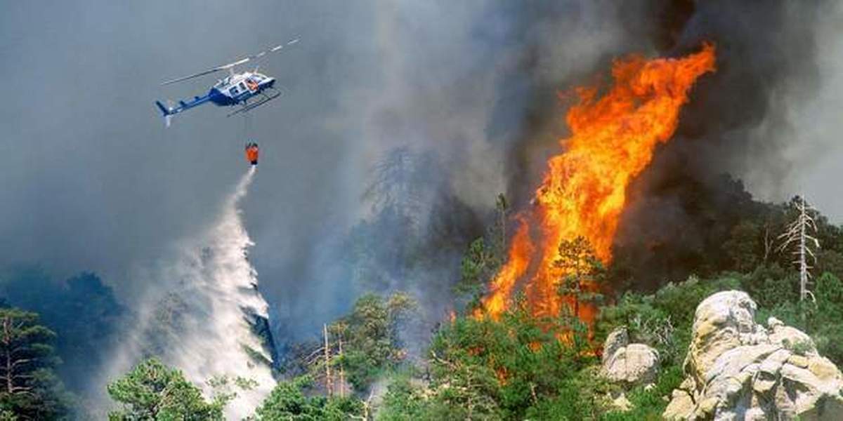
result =
M108 393L122 406L109 413L113 421L222 420L223 408L234 397L224 393L207 402L199 387L187 381L180 370L155 359L143 361L110 383Z

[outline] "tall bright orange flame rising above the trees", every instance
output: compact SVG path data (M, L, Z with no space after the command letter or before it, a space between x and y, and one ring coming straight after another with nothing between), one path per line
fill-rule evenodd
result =
M550 158L533 209L519 214L507 263L483 300L491 317L506 310L522 279L536 316L558 315L563 301L572 302L557 292L565 275L554 266L562 240L584 237L596 257L609 263L626 186L650 163L656 145L673 136L690 88L715 69L714 50L706 44L679 59L631 56L615 61L615 83L602 98L596 88L577 89L579 104L566 115L571 136L560 141L566 150ZM596 309L579 307L577 316L591 322Z

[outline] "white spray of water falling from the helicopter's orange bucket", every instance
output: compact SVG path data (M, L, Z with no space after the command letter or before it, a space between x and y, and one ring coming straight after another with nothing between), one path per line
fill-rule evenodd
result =
M268 306L257 290L247 255L254 243L239 210L255 171L244 174L206 230L181 242L174 259L153 270L151 280L166 287L141 303L145 310L115 358L111 379L155 355L183 370L208 396L214 391L207 381L214 377L255 381L250 390L232 389L238 396L226 408L230 419L254 413L271 392L271 338L256 333L268 332Z

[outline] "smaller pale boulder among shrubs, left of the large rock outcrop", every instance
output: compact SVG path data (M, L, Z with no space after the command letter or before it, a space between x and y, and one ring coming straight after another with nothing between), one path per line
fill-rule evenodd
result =
M626 328L617 328L604 343L603 374L625 386L652 383L658 374L658 351L645 344L630 344Z

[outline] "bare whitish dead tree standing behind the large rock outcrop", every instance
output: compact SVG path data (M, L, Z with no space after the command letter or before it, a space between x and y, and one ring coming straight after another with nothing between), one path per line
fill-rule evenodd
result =
M817 263L817 256L812 248L819 248L819 240L816 235L817 223L813 221L811 214L814 212L813 207L808 204L804 197L797 197L794 200L797 217L794 221L787 225L787 231L779 236L784 242L779 246L779 251L784 251L789 247L796 246L793 254L796 259L793 264L797 264L799 268L799 301L805 301L806 296L810 296L811 301L816 301L813 293L808 290L808 283L811 279L810 269L813 268L808 264L808 259L813 259L813 263ZM813 235L810 233L813 232Z

